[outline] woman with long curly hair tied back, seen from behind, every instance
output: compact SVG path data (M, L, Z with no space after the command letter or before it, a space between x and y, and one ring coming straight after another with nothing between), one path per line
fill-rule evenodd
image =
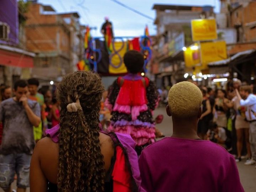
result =
M57 89L60 124L34 149L31 192L144 191L135 142L100 132L103 91L100 76L91 71L64 76Z

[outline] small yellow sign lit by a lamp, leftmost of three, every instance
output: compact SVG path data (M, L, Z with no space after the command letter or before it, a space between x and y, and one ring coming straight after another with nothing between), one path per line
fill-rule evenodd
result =
M186 51L184 51L184 60L185 65L188 68L194 67L196 64L200 63L200 52L198 49L194 50L191 47L188 47Z

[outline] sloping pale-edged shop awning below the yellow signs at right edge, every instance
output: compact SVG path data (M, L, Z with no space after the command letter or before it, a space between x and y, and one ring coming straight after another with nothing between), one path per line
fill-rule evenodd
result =
M228 59L208 63L208 66L209 67L222 66L222 65L228 65L231 62L233 63L233 62L238 62L238 61L239 62L244 62L244 59L250 58L251 56L254 56L254 55L256 55L256 50L255 49L250 49L250 50L246 50L246 51L243 51L243 52L236 53L235 55L233 55L232 57L230 57Z

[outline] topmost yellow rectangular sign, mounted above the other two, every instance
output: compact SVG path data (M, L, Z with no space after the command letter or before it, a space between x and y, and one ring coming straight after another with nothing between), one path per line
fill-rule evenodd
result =
M193 41L208 41L217 39L217 25L215 19L191 20Z

